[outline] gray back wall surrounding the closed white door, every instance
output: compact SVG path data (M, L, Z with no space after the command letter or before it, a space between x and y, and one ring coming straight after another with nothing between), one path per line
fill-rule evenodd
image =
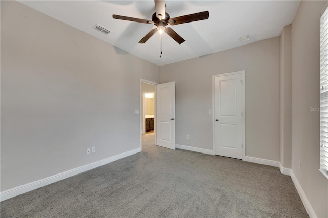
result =
M212 75L245 70L246 155L279 161L279 50L276 37L160 67L176 82L176 143L212 150Z

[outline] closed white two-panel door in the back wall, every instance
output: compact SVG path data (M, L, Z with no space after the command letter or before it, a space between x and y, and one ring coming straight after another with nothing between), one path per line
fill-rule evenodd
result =
M242 159L242 74L215 77L215 155Z

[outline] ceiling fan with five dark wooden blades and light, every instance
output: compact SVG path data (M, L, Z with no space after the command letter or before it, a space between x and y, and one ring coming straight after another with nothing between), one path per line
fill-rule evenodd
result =
M193 21L203 20L209 18L209 12L203 11L194 14L188 14L184 16L170 18L170 15L165 12L165 0L155 0L155 10L156 12L152 16L152 20L147 19L139 19L134 17L126 17L113 14L114 19L122 19L122 20L129 20L139 23L145 24L153 24L157 26L154 29L151 29L144 38L142 38L139 43L145 43L152 35L154 35L157 31L159 33L166 32L169 36L171 36L176 42L179 44L185 42L179 34L177 34L172 28L166 27L168 24L170 25L178 25L178 24L185 24Z

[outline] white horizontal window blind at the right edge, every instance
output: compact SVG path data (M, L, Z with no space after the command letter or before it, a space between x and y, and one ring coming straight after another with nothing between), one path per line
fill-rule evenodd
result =
M328 171L328 10L320 18L320 169Z

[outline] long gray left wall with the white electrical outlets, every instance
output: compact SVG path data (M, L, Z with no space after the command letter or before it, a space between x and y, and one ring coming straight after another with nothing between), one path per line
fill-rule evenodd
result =
M159 67L1 1L1 191L139 148L140 78Z

